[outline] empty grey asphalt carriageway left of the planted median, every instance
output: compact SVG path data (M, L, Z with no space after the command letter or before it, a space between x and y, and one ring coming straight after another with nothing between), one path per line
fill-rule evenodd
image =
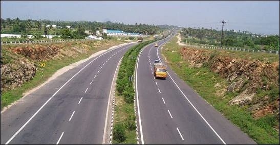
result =
M135 44L118 46L83 62L2 112L1 144L107 141L114 74L124 53Z

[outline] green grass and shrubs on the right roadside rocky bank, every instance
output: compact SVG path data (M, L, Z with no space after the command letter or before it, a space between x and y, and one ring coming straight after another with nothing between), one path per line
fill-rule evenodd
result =
M277 116L265 115L259 119L254 119L251 114L246 111L246 107L242 108L227 105L230 98L232 98L232 96L236 96L237 94L225 93L225 95L221 97L216 94L217 91L226 88L225 85L227 83L225 82L227 82L227 80L220 78L218 74L212 72L207 64L202 65L202 67L189 67L189 62L181 58L181 46L177 44L177 41L176 37L173 38L169 43L166 43L162 49L162 54L169 67L175 71L183 81L191 86L193 90L196 90L202 98L220 111L233 124L240 127L243 132L248 134L258 144L279 144L279 132L273 129L274 126L279 124ZM231 53L230 51L225 52ZM279 56L275 54L252 53L250 55L242 52L234 53L235 57L246 56L247 58L249 57L259 60L266 59L269 62L279 60ZM210 55L223 56L224 54L222 54L221 51L212 50L212 54ZM228 55L229 54L226 54L226 56ZM216 86L216 84L222 85ZM279 89L273 89L267 93L272 93L273 96L275 96L274 93L276 93L276 97L279 98ZM264 96L262 93L259 94Z

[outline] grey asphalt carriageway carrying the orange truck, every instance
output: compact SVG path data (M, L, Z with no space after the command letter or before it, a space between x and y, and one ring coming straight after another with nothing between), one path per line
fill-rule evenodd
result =
M169 67L166 80L155 79L153 62L165 63L160 49L170 39L158 41L158 47L147 45L138 56L135 93L141 144L256 144Z

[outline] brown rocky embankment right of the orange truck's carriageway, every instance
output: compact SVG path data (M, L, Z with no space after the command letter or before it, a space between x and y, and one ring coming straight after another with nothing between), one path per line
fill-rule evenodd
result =
M266 114L278 116L279 121L279 61L265 61L219 57L207 50L182 47L181 58L190 63L190 67L201 67L208 63L213 72L228 80L225 91L238 92L239 95L228 105L246 106L254 118ZM273 90L274 89L274 90ZM257 91L270 91L263 98L257 97ZM223 94L222 94L223 95ZM279 125L275 127L279 131Z

